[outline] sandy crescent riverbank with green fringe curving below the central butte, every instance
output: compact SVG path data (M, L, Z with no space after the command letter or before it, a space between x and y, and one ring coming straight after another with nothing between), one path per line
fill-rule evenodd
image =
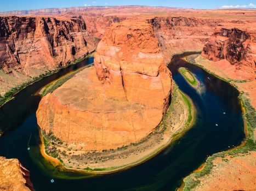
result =
M46 138L47 147L41 145L43 156L55 165L61 161L66 170L84 171L91 174L108 174L144 163L182 136L195 122L195 106L191 100L174 86L172 103L161 124L144 140L101 152L70 151L56 138ZM47 136L43 134L43 136ZM45 142L45 141L44 141ZM52 146L54 145L54 147ZM45 148L46 146L46 148ZM52 152L54 151L54 152ZM59 159L56 162L56 158Z

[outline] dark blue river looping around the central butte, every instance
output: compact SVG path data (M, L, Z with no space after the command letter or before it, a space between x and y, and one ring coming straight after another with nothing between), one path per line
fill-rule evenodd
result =
M174 190L180 186L182 178L200 166L207 156L239 145L244 138L236 89L180 57L175 56L169 68L181 91L194 102L197 121L181 139L146 163L111 175L84 178L88 175L60 172L42 159L37 146L35 114L40 97L31 94L67 71L60 71L27 87L0 109L0 127L11 128L0 138L0 156L18 158L30 170L36 190ZM79 64L92 62L89 59ZM72 67L69 69L74 69ZM195 74L201 81L202 93L183 79L177 72L179 67L186 67ZM28 146L31 147L29 151ZM52 178L54 183L50 182Z

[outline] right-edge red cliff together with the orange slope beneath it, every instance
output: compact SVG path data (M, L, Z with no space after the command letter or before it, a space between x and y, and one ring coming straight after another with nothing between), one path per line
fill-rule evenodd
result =
M232 80L256 108L256 28L221 28L214 32L196 59L204 68Z

